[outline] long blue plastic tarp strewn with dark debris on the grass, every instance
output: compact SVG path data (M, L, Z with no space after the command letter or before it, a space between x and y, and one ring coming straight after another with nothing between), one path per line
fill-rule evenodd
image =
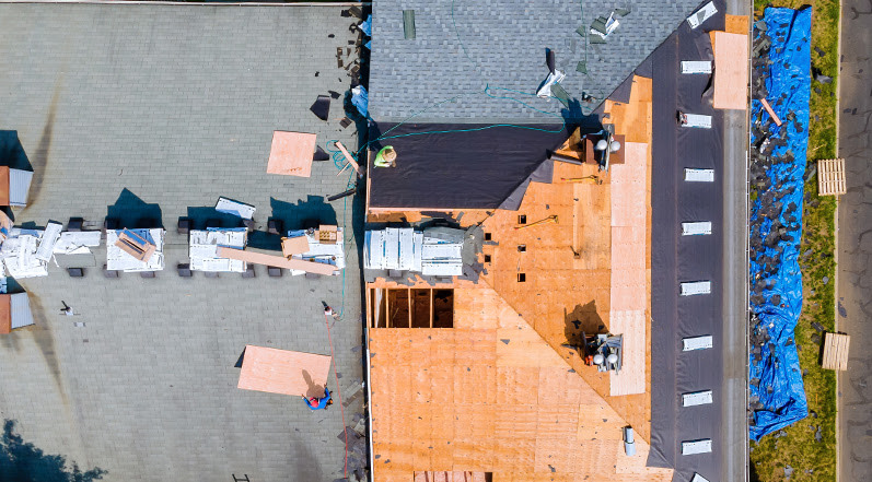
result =
M763 136L768 136L769 145L775 145L766 174L771 185L758 191L751 212L752 245L756 244L755 249L761 255L751 260L751 283L757 286L751 293L751 310L759 320L752 328L755 334L763 332L769 337L763 346L759 343L752 346L759 352L751 354L751 396L752 401L756 398L761 404L754 412L749 431L754 440L809 414L793 329L802 310L798 256L809 140L812 9L769 8L763 20L767 26L765 34L772 42L766 98L782 124L777 127L764 111L764 129L752 129L753 149L760 149L765 142ZM755 38L760 35L755 28ZM758 99L752 101L752 113L763 109ZM772 230L776 219L780 232Z

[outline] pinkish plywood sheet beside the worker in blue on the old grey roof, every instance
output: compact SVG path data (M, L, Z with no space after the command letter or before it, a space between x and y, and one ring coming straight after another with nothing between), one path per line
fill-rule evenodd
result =
M237 387L270 393L323 397L330 357L246 345Z

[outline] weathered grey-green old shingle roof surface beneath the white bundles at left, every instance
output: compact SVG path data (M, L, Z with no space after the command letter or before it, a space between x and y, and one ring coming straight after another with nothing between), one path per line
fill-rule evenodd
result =
M219 196L255 205L258 230L275 215L287 228L318 218L351 233L350 200L346 219L341 201L312 198L346 189L333 163L315 163L310 179L266 174L274 130L357 145L337 101L329 122L309 111L349 89L335 55L357 19L340 11L0 5L0 130L16 131L35 171L16 225L81 216L88 228L108 211L167 228L155 279L98 268L73 279L53 262L47 278L20 280L36 325L0 337L0 418L25 443L107 470L106 481L342 477L340 404L313 413L299 397L240 390L234 367L246 344L329 353L321 301L341 308L342 277L174 270L188 252L176 220L202 228ZM94 252L102 267L105 245ZM358 266L356 249L348 257ZM363 399L358 280L346 272L332 328L348 424ZM61 301L77 316L60 316Z

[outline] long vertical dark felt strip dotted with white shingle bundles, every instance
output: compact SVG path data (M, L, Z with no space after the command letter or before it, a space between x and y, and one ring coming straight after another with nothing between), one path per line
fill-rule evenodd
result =
M719 11L723 3L716 1ZM722 30L724 17L707 20L705 30ZM653 70L652 258L651 258L651 457L649 463L675 468L676 480L694 472L708 480L721 474L723 320L722 113L705 94L708 75L682 74L682 60L711 60L709 35L683 24L651 56ZM678 127L677 110L712 116L711 129ZM714 183L684 181L685 168L714 171ZM710 221L712 233L682 236L681 223ZM712 293L679 296L685 281L712 280ZM713 336L713 346L683 352L683 337ZM711 404L683 408L679 395L712 389ZM710 454L682 456L683 440L711 438Z

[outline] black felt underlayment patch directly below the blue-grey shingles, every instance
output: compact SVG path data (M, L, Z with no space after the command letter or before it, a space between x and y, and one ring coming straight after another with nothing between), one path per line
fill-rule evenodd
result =
M381 143L393 145L397 160L396 167L370 166L370 208L496 209L545 161L546 151L569 137L559 125L485 127L373 127L371 138L384 137Z

